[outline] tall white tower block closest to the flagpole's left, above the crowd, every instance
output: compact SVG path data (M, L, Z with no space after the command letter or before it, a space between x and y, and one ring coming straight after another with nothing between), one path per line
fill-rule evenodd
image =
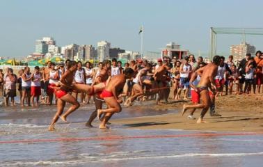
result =
M104 61L109 59L109 49L111 48L111 43L107 41L97 42L97 60Z

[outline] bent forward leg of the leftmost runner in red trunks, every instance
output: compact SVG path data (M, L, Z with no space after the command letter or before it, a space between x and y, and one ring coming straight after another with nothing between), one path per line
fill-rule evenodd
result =
M72 113L75 110L77 110L79 108L80 104L70 94L67 94L67 95L61 97L61 100L65 101L65 102L69 102L70 104L72 104L72 106L70 106L70 108L67 109L67 111L61 116L61 120L63 120L64 122L67 122L67 116L70 115L70 113Z

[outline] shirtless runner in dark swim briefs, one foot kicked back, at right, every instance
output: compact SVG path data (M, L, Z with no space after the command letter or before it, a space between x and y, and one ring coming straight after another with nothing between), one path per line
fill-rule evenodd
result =
M214 83L214 77L216 76L218 65L221 62L220 56L214 56L213 63L209 63L205 65L205 67L199 68L196 73L201 76L200 82L197 87L193 86L193 89L200 93L200 100L201 104L194 104L194 105L184 105L182 113L184 113L187 109L202 109L200 114L200 118L198 118L197 123L205 123L203 120L205 113L209 109L211 105L211 100L209 97L208 87L211 88L213 91L216 91L216 85Z

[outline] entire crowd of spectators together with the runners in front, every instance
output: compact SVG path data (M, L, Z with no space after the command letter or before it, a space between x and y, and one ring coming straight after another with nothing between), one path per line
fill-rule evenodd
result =
M6 69L5 73L0 70L0 88L6 105L9 98L11 105L14 104L16 84L22 106L24 101L28 106L37 106L40 100L45 104L55 102L57 112L49 126L50 131L55 129L59 118L67 122L67 116L81 104L92 102L95 111L91 113L86 126L93 127L92 122L97 118L101 121L99 128L107 128L106 124L113 114L122 110L122 102L125 106L133 105L134 100L150 98L156 99L157 104L161 100L168 102L170 90L173 90L171 94L174 100L189 100L191 97L193 104L184 104L182 115L191 110L188 118L196 119L193 112L202 109L197 121L202 123L208 109L210 116L221 116L215 111L215 100L223 94L223 88L226 95L232 95L233 86L235 94L250 93L252 90L256 93L256 89L260 93L262 67L261 51L257 51L255 58L246 54L238 65L234 64L232 56L228 61L223 56L214 56L207 63L202 57L196 61L193 55L185 56L183 60L159 58L157 64L138 59L125 63L124 67L115 58L100 62L97 67L90 62L83 67L81 62L67 60L63 65L48 62L46 67L36 66L32 73L29 67L24 67L18 72L18 77L11 68ZM102 108L103 103L107 106L105 109ZM66 104L70 104L70 107L64 112Z

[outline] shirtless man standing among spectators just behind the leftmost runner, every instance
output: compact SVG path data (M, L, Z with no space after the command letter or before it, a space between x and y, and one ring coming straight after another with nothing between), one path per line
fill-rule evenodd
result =
M51 102L51 95L48 94L48 88L49 88L49 73L51 70L51 61L47 62L47 67L45 67L44 72L42 73L42 79L44 81L44 102L46 104L50 104Z

